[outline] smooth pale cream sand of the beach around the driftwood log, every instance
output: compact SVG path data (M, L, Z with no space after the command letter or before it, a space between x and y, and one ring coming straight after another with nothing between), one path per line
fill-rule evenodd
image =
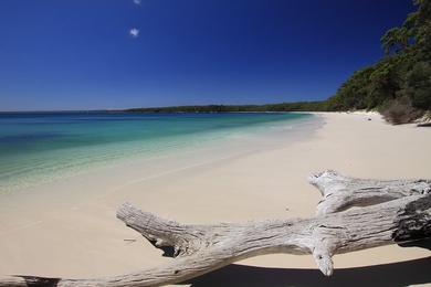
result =
M319 193L306 178L325 169L360 178L431 179L431 128L390 126L369 113L316 115L322 128L283 147L209 162L185 155L188 166L175 169L135 162L0 196L0 274L95 277L169 261L115 219L124 201L188 223L239 222L313 216ZM427 249L398 246L338 255L327 279L312 256L266 255L192 286L425 284L428 256Z

